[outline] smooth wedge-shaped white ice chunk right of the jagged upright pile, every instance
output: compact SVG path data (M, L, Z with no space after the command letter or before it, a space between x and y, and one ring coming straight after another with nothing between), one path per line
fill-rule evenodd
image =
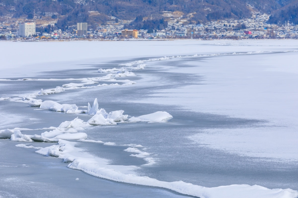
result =
M170 115L170 113L167 113L165 111L157 111L155 113L150 113L139 117L131 117L128 120L133 122L166 122L167 120L172 118L173 116Z

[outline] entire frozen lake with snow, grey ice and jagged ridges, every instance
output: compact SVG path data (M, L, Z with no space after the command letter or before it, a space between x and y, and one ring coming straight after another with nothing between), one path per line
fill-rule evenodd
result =
M0 197L298 196L297 40L0 46Z

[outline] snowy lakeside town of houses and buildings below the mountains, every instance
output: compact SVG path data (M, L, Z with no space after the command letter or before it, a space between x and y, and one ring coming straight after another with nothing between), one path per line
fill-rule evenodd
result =
M94 11L91 11L94 12ZM133 22L110 17L105 24L90 28L87 23L77 22L65 31L55 27L56 17L35 16L33 19L7 18L0 23L1 40L163 40L163 39L298 39L298 25L269 24L268 14L252 12L249 19L230 19L207 22L191 21L192 14L164 11L162 20L167 27L162 30L127 29ZM144 17L145 19L151 19ZM3 21L3 20L2 20ZM42 31L41 31L42 30Z

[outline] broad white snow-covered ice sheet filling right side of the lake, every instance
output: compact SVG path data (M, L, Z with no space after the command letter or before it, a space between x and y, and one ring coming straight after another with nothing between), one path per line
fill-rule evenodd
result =
M196 62L200 60L196 56L180 67L159 65L168 72L202 76L202 83L157 90L150 98L134 102L258 119L260 127L216 128L200 131L190 139L198 145L240 155L297 161L298 146L294 142L298 134L294 131L298 129L298 95L294 85L298 70L293 66L297 56L294 51L225 54L204 62Z

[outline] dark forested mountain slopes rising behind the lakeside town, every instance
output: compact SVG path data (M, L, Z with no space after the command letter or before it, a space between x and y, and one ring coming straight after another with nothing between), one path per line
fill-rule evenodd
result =
M134 20L137 16L161 19L164 11L191 13L189 21L241 19L251 11L272 14L271 23L298 23L298 0L0 0L0 16L59 17L64 29L76 22L101 24L108 20Z

